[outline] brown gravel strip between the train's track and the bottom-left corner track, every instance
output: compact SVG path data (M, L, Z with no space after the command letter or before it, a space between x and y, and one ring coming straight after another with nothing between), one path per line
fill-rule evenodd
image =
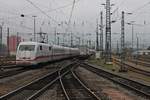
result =
M56 69L48 69L48 68L41 68L41 69L34 69L27 72L23 72L12 77L7 77L0 80L0 96L4 95L18 87L28 84L35 79L38 79L40 76L43 76L49 72L52 72Z

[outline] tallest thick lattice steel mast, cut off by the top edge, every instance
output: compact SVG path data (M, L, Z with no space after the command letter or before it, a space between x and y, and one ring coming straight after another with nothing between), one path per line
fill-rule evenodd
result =
M105 63L111 64L111 16L110 0L106 0L106 43L105 43Z

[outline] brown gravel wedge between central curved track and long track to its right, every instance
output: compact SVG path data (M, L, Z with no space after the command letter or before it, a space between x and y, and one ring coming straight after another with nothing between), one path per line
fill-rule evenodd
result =
M144 100L82 67L77 68L76 72L96 94L99 93L101 96L107 96L111 100Z

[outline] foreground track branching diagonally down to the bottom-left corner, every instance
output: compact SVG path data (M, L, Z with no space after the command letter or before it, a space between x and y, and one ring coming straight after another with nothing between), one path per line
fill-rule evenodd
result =
M74 62L52 73L48 73L47 75L36 79L28 83L27 85L24 85L22 87L17 88L16 90L11 91L8 94L1 96L0 100L33 100L40 96L41 93L47 89L47 87L49 87L59 79L59 70L65 73L66 70L68 70L68 68L72 66L72 64L74 64ZM60 66L63 65L60 64ZM61 75L63 75L64 73L61 73Z

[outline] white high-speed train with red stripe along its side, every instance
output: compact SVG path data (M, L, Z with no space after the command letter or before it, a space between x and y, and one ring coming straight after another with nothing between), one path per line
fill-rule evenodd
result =
M78 56L78 48L49 45L38 42L21 42L17 48L17 65L36 65Z

